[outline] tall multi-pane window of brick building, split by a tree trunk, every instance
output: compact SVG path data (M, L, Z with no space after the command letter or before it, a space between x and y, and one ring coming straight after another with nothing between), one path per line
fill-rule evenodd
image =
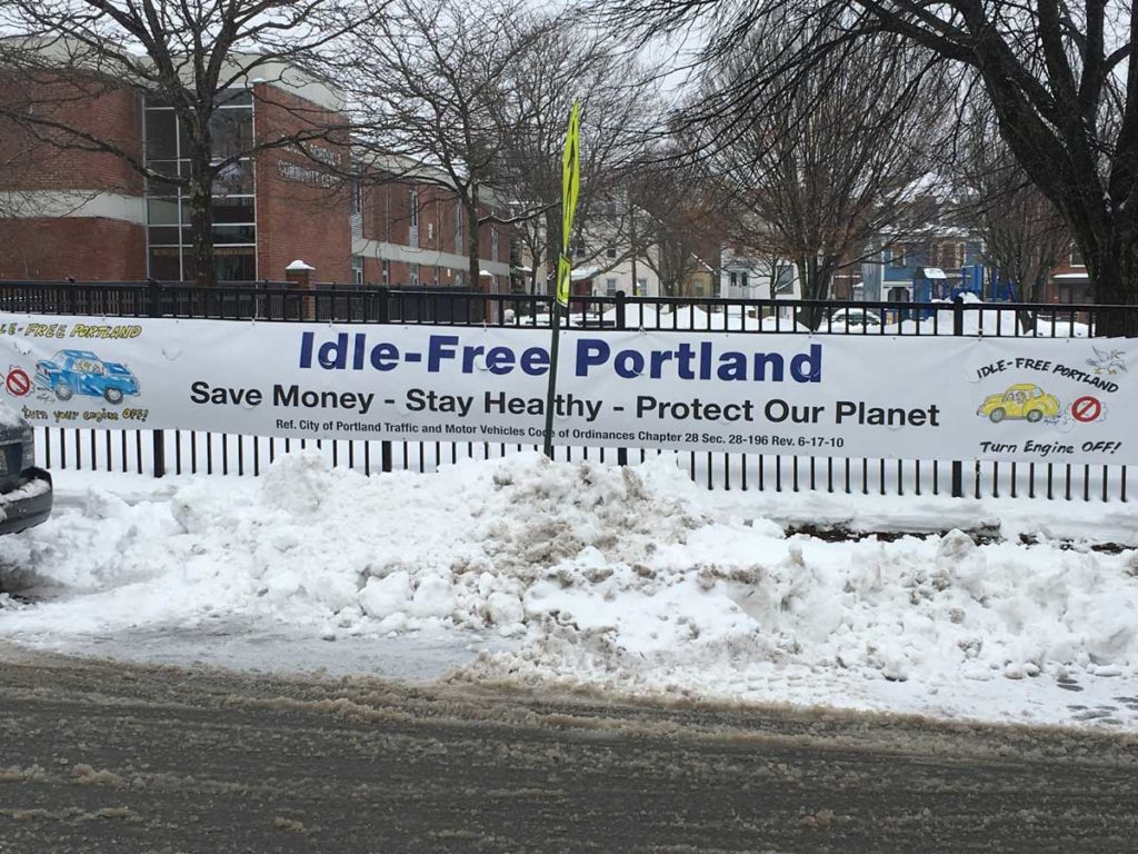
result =
M216 159L236 158L214 179L214 274L218 281L257 278L257 217L253 158L253 98L245 90L223 93L211 118ZM190 174L185 133L173 108L148 97L143 104L142 150L157 173L147 180L147 269L166 281L193 278L190 203L179 179ZM163 175L173 180L163 180Z

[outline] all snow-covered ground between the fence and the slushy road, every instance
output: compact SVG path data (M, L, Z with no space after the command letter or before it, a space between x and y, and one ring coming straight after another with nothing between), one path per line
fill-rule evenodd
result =
M828 540L786 525L943 532ZM979 535L982 534L982 535ZM1128 504L706 492L534 453L366 478L57 475L0 635L370 672L1138 730ZM452 671L452 668L456 668Z

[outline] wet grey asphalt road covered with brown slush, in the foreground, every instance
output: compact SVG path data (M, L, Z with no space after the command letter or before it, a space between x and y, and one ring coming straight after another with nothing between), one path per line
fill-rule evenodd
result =
M1125 852L1138 739L0 646L0 852Z

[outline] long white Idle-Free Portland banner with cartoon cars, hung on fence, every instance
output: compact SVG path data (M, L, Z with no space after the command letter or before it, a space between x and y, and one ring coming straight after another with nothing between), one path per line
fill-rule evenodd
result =
M564 330L554 443L1138 463L1131 339ZM0 314L40 426L539 444L550 330ZM1130 436L1130 438L1128 438Z

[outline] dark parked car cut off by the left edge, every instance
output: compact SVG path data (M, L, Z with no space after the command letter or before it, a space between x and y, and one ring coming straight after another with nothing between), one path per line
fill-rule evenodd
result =
M51 475L35 466L35 432L0 401L0 534L47 520L51 494Z

